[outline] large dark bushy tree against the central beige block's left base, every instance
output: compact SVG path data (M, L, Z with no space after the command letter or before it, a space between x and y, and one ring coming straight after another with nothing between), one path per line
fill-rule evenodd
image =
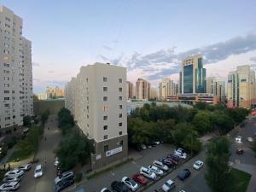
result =
M77 163L84 165L91 151L92 145L87 137L84 137L78 130L70 131L61 139L56 152L61 170L72 169Z

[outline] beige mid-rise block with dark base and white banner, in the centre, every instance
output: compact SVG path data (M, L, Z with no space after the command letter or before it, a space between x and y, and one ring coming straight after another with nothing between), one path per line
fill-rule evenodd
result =
M94 143L92 169L125 158L128 151L126 68L103 63L81 67L65 91L66 108Z

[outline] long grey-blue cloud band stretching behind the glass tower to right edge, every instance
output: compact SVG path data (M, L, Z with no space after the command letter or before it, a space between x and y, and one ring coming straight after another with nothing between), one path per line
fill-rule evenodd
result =
M256 34L230 38L224 42L210 44L201 48L189 49L181 53L176 53L175 48L176 47L172 47L171 49L160 49L148 55L142 55L135 52L130 58L118 57L115 60L110 60L107 57L104 58L115 65L127 67L128 72L134 71L135 69L148 71L148 74L144 76L144 78L147 78L148 80L161 79L174 73L178 73L180 71L181 61L189 55L203 55L203 62L207 65L218 61L224 61L230 57L230 55L241 55L250 50L254 50L256 49ZM256 61L256 58L253 57L251 60ZM150 70L148 70L149 67Z

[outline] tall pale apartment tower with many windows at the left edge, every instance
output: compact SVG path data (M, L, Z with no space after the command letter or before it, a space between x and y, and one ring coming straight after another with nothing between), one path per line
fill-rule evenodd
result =
M32 43L22 36L22 19L0 6L0 135L11 134L33 114Z

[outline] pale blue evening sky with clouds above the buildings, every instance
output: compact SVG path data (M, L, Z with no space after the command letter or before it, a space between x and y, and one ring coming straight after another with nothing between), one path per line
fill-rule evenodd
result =
M110 62L127 79L177 81L183 58L204 55L207 76L256 67L256 1L0 0L32 41L33 91L64 87L81 66Z

